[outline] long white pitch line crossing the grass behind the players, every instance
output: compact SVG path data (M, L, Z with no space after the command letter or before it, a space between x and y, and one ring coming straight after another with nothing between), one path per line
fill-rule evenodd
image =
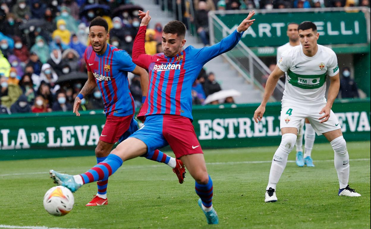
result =
M351 159L350 161L369 161L370 158L358 158L358 159ZM332 162L334 160L317 160L313 162ZM296 161L287 161L288 163L295 163ZM272 163L272 161L229 161L229 162L209 162L206 163L207 165L223 165L223 164L260 164L260 163ZM162 167L163 165L152 165L152 166L123 166L122 169L144 169L144 168L153 168L153 167ZM75 172L76 170L68 170L64 172ZM33 174L47 174L49 172L33 172L33 173L8 173L8 174L0 174L0 177L5 176L21 176L21 175L33 175Z

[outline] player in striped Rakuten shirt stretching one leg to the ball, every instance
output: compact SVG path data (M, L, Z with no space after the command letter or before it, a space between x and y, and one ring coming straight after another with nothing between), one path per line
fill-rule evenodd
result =
M139 11L142 22L134 41L133 61L147 68L150 75L148 96L138 114L138 118L145 118L143 127L112 150L103 163L86 173L72 176L51 170L52 178L59 185L76 191L83 184L108 178L123 161L154 148L170 145L175 157L183 161L196 181L195 189L200 197L198 205L206 216L207 223L219 223L212 205L213 181L207 173L203 151L192 125L191 86L206 62L237 45L243 32L253 24L255 19L250 19L254 14L255 12L250 12L237 29L219 43L200 49L188 46L183 50L186 42L185 25L179 21L171 21L163 29L163 53L151 56L145 54L144 48L145 32L151 17L149 11ZM111 170L106 169L107 167ZM96 171L99 177L94 180L83 179Z

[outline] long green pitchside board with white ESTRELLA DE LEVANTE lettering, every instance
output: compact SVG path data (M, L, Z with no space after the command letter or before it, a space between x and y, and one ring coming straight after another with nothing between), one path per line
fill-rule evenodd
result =
M203 148L280 143L280 104L268 104L256 124L258 104L194 106L193 125ZM370 99L336 102L332 108L347 141L370 140ZM99 112L0 115L0 160L94 155L104 126ZM316 143L326 141L323 136Z

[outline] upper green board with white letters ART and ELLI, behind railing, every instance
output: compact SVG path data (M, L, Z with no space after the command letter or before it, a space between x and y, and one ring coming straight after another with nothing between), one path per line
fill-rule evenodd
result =
M246 11L244 11L246 12ZM247 17L247 13L216 13L216 17L229 28L231 33ZM367 23L362 11L311 11L311 12L277 12L258 11L253 26L244 32L242 42L248 47L277 47L288 42L286 36L287 24L312 21L316 24L319 33L318 43L330 44L359 44L368 43ZM210 19L215 20L215 19ZM223 36L218 34L219 28L213 23L215 43ZM224 34L226 35L226 34Z

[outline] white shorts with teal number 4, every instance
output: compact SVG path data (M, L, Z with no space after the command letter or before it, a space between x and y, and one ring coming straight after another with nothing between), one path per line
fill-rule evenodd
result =
M338 118L332 110L330 111L330 118L328 121L319 123L321 120L318 120L318 118L324 115L319 114L319 112L325 107L325 105L326 101L316 103L303 103L288 100L282 101L280 128L295 127L299 131L302 120L308 118L317 135L340 129L341 127Z

